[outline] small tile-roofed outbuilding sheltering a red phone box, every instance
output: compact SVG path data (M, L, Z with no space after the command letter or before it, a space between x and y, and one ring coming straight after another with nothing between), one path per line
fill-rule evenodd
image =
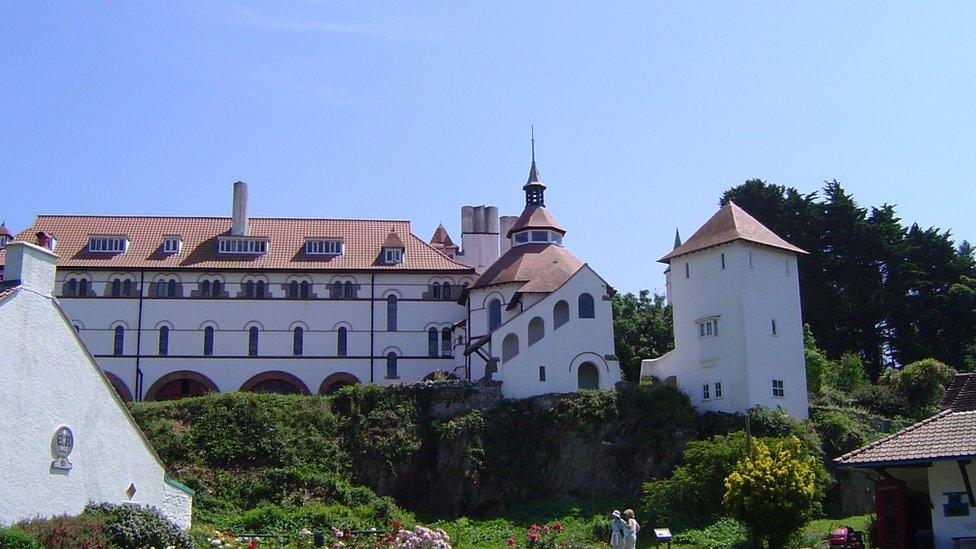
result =
M878 481L881 547L976 547L976 374L958 374L940 408L834 460Z

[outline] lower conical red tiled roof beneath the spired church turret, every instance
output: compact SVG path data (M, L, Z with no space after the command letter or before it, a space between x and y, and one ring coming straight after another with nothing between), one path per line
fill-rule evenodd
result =
M472 285L483 288L495 284L524 282L520 292L552 292L580 270L583 262L556 244L513 246L498 258Z

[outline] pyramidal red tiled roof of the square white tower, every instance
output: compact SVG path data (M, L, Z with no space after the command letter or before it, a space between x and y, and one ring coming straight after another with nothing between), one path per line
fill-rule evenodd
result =
M700 229L695 231L695 234L691 235L691 238L686 240L684 244L671 250L658 261L670 263L671 259L680 255L690 254L734 240L746 240L798 254L807 253L776 236L776 233L756 221L756 218L747 214L745 210L736 206L735 203L729 202L706 221Z

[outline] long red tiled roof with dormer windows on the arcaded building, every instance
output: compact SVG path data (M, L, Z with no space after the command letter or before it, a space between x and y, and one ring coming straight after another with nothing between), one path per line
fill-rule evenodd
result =
M17 240L34 242L44 231L57 238L59 268L146 269L298 269L298 270L395 270L472 272L466 265L445 257L410 232L409 221L365 219L261 218L249 220L249 236L266 237L264 255L218 254L217 237L227 236L228 217L149 217L41 215ZM405 261L387 264L381 248L392 232L405 248ZM124 254L88 251L89 236L125 235ZM178 235L183 246L178 254L162 252L163 235ZM397 235L408 235L406 243ZM343 255L306 255L306 237L343 241ZM3 262L0 250L0 263Z

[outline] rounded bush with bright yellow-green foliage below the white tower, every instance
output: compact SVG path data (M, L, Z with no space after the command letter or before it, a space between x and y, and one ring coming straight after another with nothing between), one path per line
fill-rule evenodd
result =
M753 536L781 549L817 509L815 467L796 437L772 448L757 440L726 477L722 503Z

